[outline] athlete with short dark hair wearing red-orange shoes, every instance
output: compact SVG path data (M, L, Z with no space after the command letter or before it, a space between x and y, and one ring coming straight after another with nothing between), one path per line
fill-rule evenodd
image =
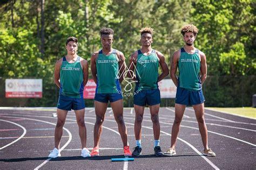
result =
M93 131L94 147L91 152L92 157L99 155L99 140L102 134L107 103L109 102L123 141L124 155L132 155L127 141L127 130L123 118L123 95L120 86L126 67L125 57L122 52L112 48L113 34L114 31L110 28L100 30L102 49L91 56L92 78L97 84L95 93L96 122Z

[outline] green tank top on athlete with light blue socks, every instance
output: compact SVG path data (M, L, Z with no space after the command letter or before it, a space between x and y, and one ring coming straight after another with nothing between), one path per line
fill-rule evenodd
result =
M158 66L159 58L156 51L152 49L150 55L143 55L138 50L138 58L136 63L136 78L138 90L148 90L158 88Z

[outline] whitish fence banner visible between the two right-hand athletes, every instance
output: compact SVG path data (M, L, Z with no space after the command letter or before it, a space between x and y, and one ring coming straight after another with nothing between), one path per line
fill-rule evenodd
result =
M164 79L158 82L161 98L175 98L176 86L171 79Z

